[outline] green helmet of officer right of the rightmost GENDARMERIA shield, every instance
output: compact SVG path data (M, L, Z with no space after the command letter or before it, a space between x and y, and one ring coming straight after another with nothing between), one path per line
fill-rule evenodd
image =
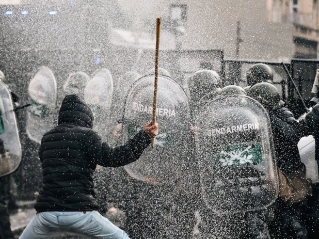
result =
M277 88L268 82L253 85L247 92L247 95L257 100L270 111L278 109L285 104L285 102L281 100Z

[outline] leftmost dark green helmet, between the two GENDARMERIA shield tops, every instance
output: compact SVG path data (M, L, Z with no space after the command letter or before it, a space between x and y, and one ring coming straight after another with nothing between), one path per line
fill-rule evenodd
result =
M205 99L219 89L219 75L213 70L196 71L188 80L192 101Z

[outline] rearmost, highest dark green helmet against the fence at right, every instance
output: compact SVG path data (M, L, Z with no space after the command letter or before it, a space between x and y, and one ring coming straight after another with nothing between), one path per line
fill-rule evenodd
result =
M270 66L262 63L254 64L246 75L247 84L252 86L260 82L272 82L273 73Z

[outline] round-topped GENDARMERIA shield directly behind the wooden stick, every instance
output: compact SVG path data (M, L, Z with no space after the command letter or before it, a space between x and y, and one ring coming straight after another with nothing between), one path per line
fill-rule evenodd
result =
M124 141L152 119L154 75L137 80L128 91L123 118ZM188 132L189 105L182 88L168 77L159 77L155 147L146 148L135 162L125 166L133 178L151 184L171 184L183 170L183 149Z

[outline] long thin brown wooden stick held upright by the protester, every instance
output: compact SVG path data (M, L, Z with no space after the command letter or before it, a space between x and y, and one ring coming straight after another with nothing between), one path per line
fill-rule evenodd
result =
M159 39L160 39L160 24L162 19L159 17L156 20L156 48L155 48L155 81L154 81L154 97L153 97L153 120L156 123L156 104L157 104L157 81L159 78ZM152 148L154 148L154 138L152 139Z

